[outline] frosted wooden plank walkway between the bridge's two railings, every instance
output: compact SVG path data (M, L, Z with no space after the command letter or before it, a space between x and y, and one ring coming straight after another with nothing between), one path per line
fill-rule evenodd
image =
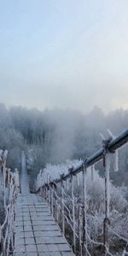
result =
M15 256L73 256L40 195L20 194L16 204Z

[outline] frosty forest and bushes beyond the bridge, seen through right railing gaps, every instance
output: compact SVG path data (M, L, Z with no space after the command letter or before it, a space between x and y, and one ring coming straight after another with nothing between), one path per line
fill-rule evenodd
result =
M127 127L128 110L123 109L105 114L101 108L95 107L90 113L80 113L71 109L39 111L35 108L6 108L5 105L0 104L0 148L7 149L9 152L7 167L10 167L12 172L15 171L15 168L20 172L22 166L20 165L21 151L24 151L26 153L29 187L35 195L41 193L44 182L46 179L48 180L48 177L55 180L55 178L67 174L73 167L81 165L83 160L102 148L102 137L109 137L108 129L114 137L119 135L121 131L125 131ZM115 157L116 154L110 156L109 218L111 224L108 232L109 249L113 254L109 255L125 255L122 253L125 253L127 248L127 229L125 229L125 226L128 222L128 176L126 175L128 150L125 150L125 147L118 150L118 159ZM114 170L116 160L118 160L119 172ZM91 167L89 167L86 175L86 203L88 206L86 208L86 234L88 249L91 252L88 255L91 256L104 255L104 245L102 243L102 234L104 234L102 228L105 216L104 176L103 161L93 166L93 173ZM65 236L72 247L73 230L68 225L71 216L76 218L76 234L79 234L79 229L82 232L80 234L83 234L83 218L81 218L83 208L79 208L83 203L83 172L79 172L78 177L73 177L73 179L74 183L69 178L68 185L67 183L63 184L65 213L67 212L67 219L69 218L65 224ZM2 177L1 180L3 180ZM25 182L25 178L23 181ZM14 188L17 188L15 183ZM61 207L61 201L58 199L58 195L61 195L59 194L61 193L59 185L56 188L53 209L56 206L58 207L59 203ZM6 194L9 195L8 188L6 190ZM50 189L48 190L50 193ZM73 199L72 196L74 196ZM3 222L2 198L0 208L0 221ZM68 212L70 212L69 216ZM58 223L61 226L61 212L57 214L60 216ZM79 237L79 235L77 236ZM82 236L80 235L80 237ZM79 255L79 241L76 241L76 255Z

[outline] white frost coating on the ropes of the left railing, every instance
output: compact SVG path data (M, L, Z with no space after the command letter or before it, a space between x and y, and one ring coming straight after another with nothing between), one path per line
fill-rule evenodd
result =
M7 155L7 151L5 154ZM6 168L6 159L3 159L0 163L0 177L2 179L3 187L2 187L2 195L4 200L4 211L5 216L3 219L3 224L0 225L0 241L1 241L1 255L7 255L9 256L9 248L10 245L14 247L14 240L12 239L14 234L14 226L15 226L15 199L18 194L17 186L18 183L16 183L16 172L10 172L9 169ZM3 172L2 172L3 167ZM3 177L4 176L4 177ZM7 177L7 178L5 178ZM6 184L6 186L5 186ZM8 193L6 193L8 192ZM3 238L3 239L1 239Z

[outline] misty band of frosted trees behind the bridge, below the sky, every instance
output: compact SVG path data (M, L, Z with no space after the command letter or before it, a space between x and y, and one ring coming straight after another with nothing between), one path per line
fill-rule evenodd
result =
M76 106L77 107L77 106ZM128 110L118 109L105 115L95 107L90 113L75 110L6 108L0 104L0 148L9 150L8 165L20 168L20 151L25 150L29 173L37 174L46 163L59 164L67 159L84 160L102 147L107 129L116 136L128 128ZM99 166L102 171L102 165ZM119 153L119 173L111 172L114 183L128 183L128 150Z

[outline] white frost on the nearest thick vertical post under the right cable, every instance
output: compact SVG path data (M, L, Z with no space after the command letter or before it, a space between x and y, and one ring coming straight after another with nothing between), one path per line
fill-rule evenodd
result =
M105 195L106 195L106 218L109 218L109 204L110 204L110 182L109 182L109 172L110 172L110 154L106 154L106 186L105 186Z

